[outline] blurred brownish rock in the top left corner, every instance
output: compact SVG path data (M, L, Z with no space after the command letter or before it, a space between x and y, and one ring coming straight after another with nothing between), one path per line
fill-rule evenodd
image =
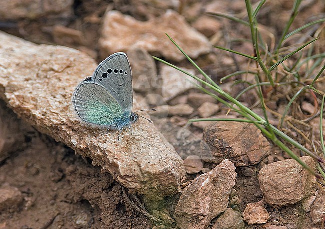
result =
M72 14L73 0L1 0L0 18L35 19L48 14Z

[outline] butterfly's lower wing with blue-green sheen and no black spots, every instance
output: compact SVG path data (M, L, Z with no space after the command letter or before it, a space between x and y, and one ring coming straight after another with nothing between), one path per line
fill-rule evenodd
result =
M111 127L124 113L121 105L105 87L90 78L75 88L72 104L81 120L102 127Z

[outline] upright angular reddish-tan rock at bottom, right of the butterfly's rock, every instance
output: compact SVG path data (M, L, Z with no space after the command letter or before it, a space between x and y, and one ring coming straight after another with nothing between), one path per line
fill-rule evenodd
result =
M227 209L236 182L234 170L233 163L224 160L184 188L174 215L179 228L203 229Z

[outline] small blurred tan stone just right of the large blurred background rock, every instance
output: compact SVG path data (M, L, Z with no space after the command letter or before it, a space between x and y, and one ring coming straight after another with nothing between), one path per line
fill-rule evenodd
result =
M192 26L206 37L211 37L219 31L221 22L214 17L203 15L199 17Z

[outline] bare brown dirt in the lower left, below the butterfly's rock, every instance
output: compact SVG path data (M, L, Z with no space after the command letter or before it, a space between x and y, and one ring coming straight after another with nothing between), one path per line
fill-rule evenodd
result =
M122 186L88 158L36 130L24 136L26 147L0 165L0 183L23 196L18 211L1 212L0 228L152 228L130 206Z

